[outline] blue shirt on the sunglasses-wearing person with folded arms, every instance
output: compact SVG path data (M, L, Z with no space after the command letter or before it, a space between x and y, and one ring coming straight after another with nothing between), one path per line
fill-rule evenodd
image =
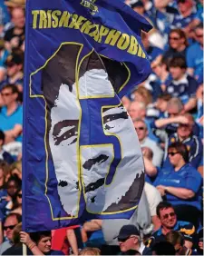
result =
M177 172L172 169L167 170L166 168L161 170L155 182L155 186L158 185L184 188L193 191L195 196L189 200L180 199L168 192L166 194L167 201L172 205L190 205L201 211L202 177L189 163L182 166Z

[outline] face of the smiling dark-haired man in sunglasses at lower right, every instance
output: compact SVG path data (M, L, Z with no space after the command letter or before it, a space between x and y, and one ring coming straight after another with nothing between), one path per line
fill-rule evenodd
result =
M160 222L165 228L172 229L177 222L177 216L173 208L164 208L160 210Z

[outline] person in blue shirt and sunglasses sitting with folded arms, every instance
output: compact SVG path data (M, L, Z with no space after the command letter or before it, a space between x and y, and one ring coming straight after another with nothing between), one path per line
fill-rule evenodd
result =
M172 143L168 155L173 170L161 170L155 185L161 196L174 205L178 220L191 222L198 227L202 177L189 164L189 152L185 144Z

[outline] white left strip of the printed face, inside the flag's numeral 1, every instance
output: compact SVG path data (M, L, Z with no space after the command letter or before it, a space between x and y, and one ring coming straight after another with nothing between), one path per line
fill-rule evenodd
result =
M51 110L52 126L49 144L58 181L58 193L63 209L74 216L78 201L77 139L80 109L76 100L76 89L62 84ZM68 200L69 198L69 200Z

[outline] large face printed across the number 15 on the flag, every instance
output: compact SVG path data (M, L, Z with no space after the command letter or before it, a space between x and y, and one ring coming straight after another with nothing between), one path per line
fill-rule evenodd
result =
M43 74L46 142L59 198L71 216L77 216L82 192L88 212L120 212L140 200L144 176L140 143L116 95L127 77L112 81L120 70L92 52L75 81L68 60L76 60L78 52L76 45L62 47Z

